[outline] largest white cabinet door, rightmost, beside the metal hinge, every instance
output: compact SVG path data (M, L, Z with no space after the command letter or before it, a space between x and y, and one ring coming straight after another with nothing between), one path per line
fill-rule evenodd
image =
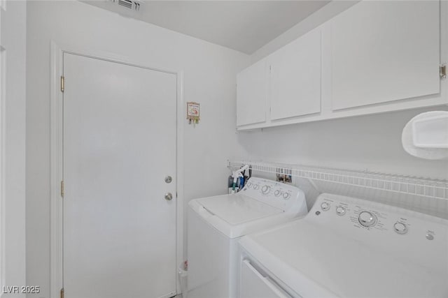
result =
M440 92L439 1L361 1L331 21L332 109Z

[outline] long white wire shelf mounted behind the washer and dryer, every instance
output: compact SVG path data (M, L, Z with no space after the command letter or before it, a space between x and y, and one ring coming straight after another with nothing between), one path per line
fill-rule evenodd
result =
M448 200L448 181L442 179L408 177L399 174L369 172L367 170L339 170L262 161L228 161L228 167L232 170L238 169L243 164L251 165L253 171L273 174L279 171L288 172L293 177L300 177L311 181L332 182L345 186L357 186L379 191Z

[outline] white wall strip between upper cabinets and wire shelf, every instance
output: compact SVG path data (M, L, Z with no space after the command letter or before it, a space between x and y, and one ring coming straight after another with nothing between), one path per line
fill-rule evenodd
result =
M407 121L427 110L389 112L240 132L240 156L266 161L448 179L448 161L427 161L402 148Z

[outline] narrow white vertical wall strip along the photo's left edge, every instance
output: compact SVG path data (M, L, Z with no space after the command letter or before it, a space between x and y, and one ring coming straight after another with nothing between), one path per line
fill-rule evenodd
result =
M4 4L5 2L3 2ZM25 1L6 1L1 10L1 84L4 111L1 126L4 152L1 161L3 204L1 225L2 285L26 285L25 281L25 59L26 6ZM1 9L1 8L0 8ZM6 70L6 71L5 71ZM3 79L3 78L2 78ZM4 84L3 84L4 83ZM3 89L5 88L5 89ZM4 125L4 127L3 127ZM4 159L3 159L4 158ZM23 297L23 295L1 295Z

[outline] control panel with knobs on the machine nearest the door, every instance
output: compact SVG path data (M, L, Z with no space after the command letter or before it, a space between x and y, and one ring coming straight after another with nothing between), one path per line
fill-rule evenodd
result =
M306 204L304 193L295 186L281 182L251 177L239 192L286 211L297 204Z

